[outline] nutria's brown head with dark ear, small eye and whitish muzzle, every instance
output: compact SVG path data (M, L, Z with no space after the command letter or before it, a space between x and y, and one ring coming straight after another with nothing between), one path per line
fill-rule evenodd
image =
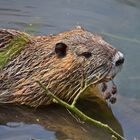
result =
M83 71L85 81L89 84L112 80L124 63L124 56L120 51L101 36L79 27L65 35L59 34L54 52L60 67L65 60L68 60L68 63L72 60L71 65L79 65L77 71Z

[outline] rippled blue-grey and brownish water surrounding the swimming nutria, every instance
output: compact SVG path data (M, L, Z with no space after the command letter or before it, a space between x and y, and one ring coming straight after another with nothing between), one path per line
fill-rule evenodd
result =
M139 23L139 0L0 0L1 28L52 34L81 25L101 34L125 54L123 71L116 78L120 94L111 106L114 115L109 108L102 109L97 104L90 107L107 110L106 115L96 114L95 110L92 115L109 123L128 140L140 139ZM0 140L109 139L101 130L77 122L61 107L40 112L1 107L0 118Z

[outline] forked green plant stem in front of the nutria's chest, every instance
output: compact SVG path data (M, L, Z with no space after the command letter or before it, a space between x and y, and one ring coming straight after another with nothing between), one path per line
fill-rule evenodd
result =
M70 105L66 102L64 102L63 100L61 100L60 98L56 97L53 93L51 93L40 81L37 81L37 83L40 85L41 88L44 89L44 91L46 92L46 94L55 99L55 102L57 102L58 104L64 106L65 108L69 109L70 111L72 111L73 113L75 113L79 118L81 118L84 121L87 121L97 127L100 127L104 130L106 130L107 132L109 132L112 136L115 136L118 140L125 140L124 137L122 137L120 134L118 134L116 131L114 131L111 127L109 127L107 124L103 124L100 121L94 120L92 118L90 118L89 116L87 116L86 114L84 114L83 112L81 112L77 107L75 107L75 103L78 99L78 97L80 96L80 94L86 89L83 88L78 95L75 97L75 99L73 100L73 103Z

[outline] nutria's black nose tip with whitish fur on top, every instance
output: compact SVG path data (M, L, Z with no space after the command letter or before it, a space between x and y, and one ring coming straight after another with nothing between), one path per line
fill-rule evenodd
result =
M121 52L117 52L116 54L115 66L120 66L124 63L124 55Z

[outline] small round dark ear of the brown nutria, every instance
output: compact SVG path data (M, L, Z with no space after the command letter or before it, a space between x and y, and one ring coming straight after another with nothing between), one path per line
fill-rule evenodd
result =
M60 42L55 45L55 53L57 54L58 57L66 56L66 51L67 51L66 44Z

